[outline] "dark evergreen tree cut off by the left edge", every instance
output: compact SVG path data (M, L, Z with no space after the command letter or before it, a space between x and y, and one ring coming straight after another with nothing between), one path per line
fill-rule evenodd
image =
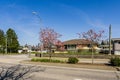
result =
M5 48L5 35L4 31L0 29L0 53L4 52Z

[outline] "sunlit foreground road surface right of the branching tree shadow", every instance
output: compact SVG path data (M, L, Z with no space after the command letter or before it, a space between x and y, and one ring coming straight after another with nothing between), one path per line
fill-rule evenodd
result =
M47 67L36 80L119 80L120 73L77 68ZM39 78L39 79L38 79Z

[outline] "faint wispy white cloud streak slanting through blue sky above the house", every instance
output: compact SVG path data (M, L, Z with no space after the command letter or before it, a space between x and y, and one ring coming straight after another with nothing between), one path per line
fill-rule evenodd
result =
M67 10L70 10L71 14L74 14L75 16L78 16L80 19L82 19L86 24L88 24L90 27L93 28L101 28L101 29L107 29L109 25L106 25L101 19L98 18L92 18L89 13L86 13L85 11L73 7L68 6L65 4L61 4L62 7L66 8Z

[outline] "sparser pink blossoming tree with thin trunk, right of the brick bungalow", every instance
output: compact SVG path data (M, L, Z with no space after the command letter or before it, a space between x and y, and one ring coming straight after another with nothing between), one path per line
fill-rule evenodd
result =
M79 37L83 37L86 40L91 42L91 49L92 49L92 64L94 63L94 54L93 54L93 44L99 43L103 37L104 30L101 31L94 31L93 29L88 30L87 32L83 32L82 34L78 33Z

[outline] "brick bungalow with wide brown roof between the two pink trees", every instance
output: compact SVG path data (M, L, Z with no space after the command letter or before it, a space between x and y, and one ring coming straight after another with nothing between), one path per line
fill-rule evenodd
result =
M63 42L65 50L79 50L79 49L91 49L91 41L85 39L72 39ZM94 49L98 49L97 44L93 46Z

